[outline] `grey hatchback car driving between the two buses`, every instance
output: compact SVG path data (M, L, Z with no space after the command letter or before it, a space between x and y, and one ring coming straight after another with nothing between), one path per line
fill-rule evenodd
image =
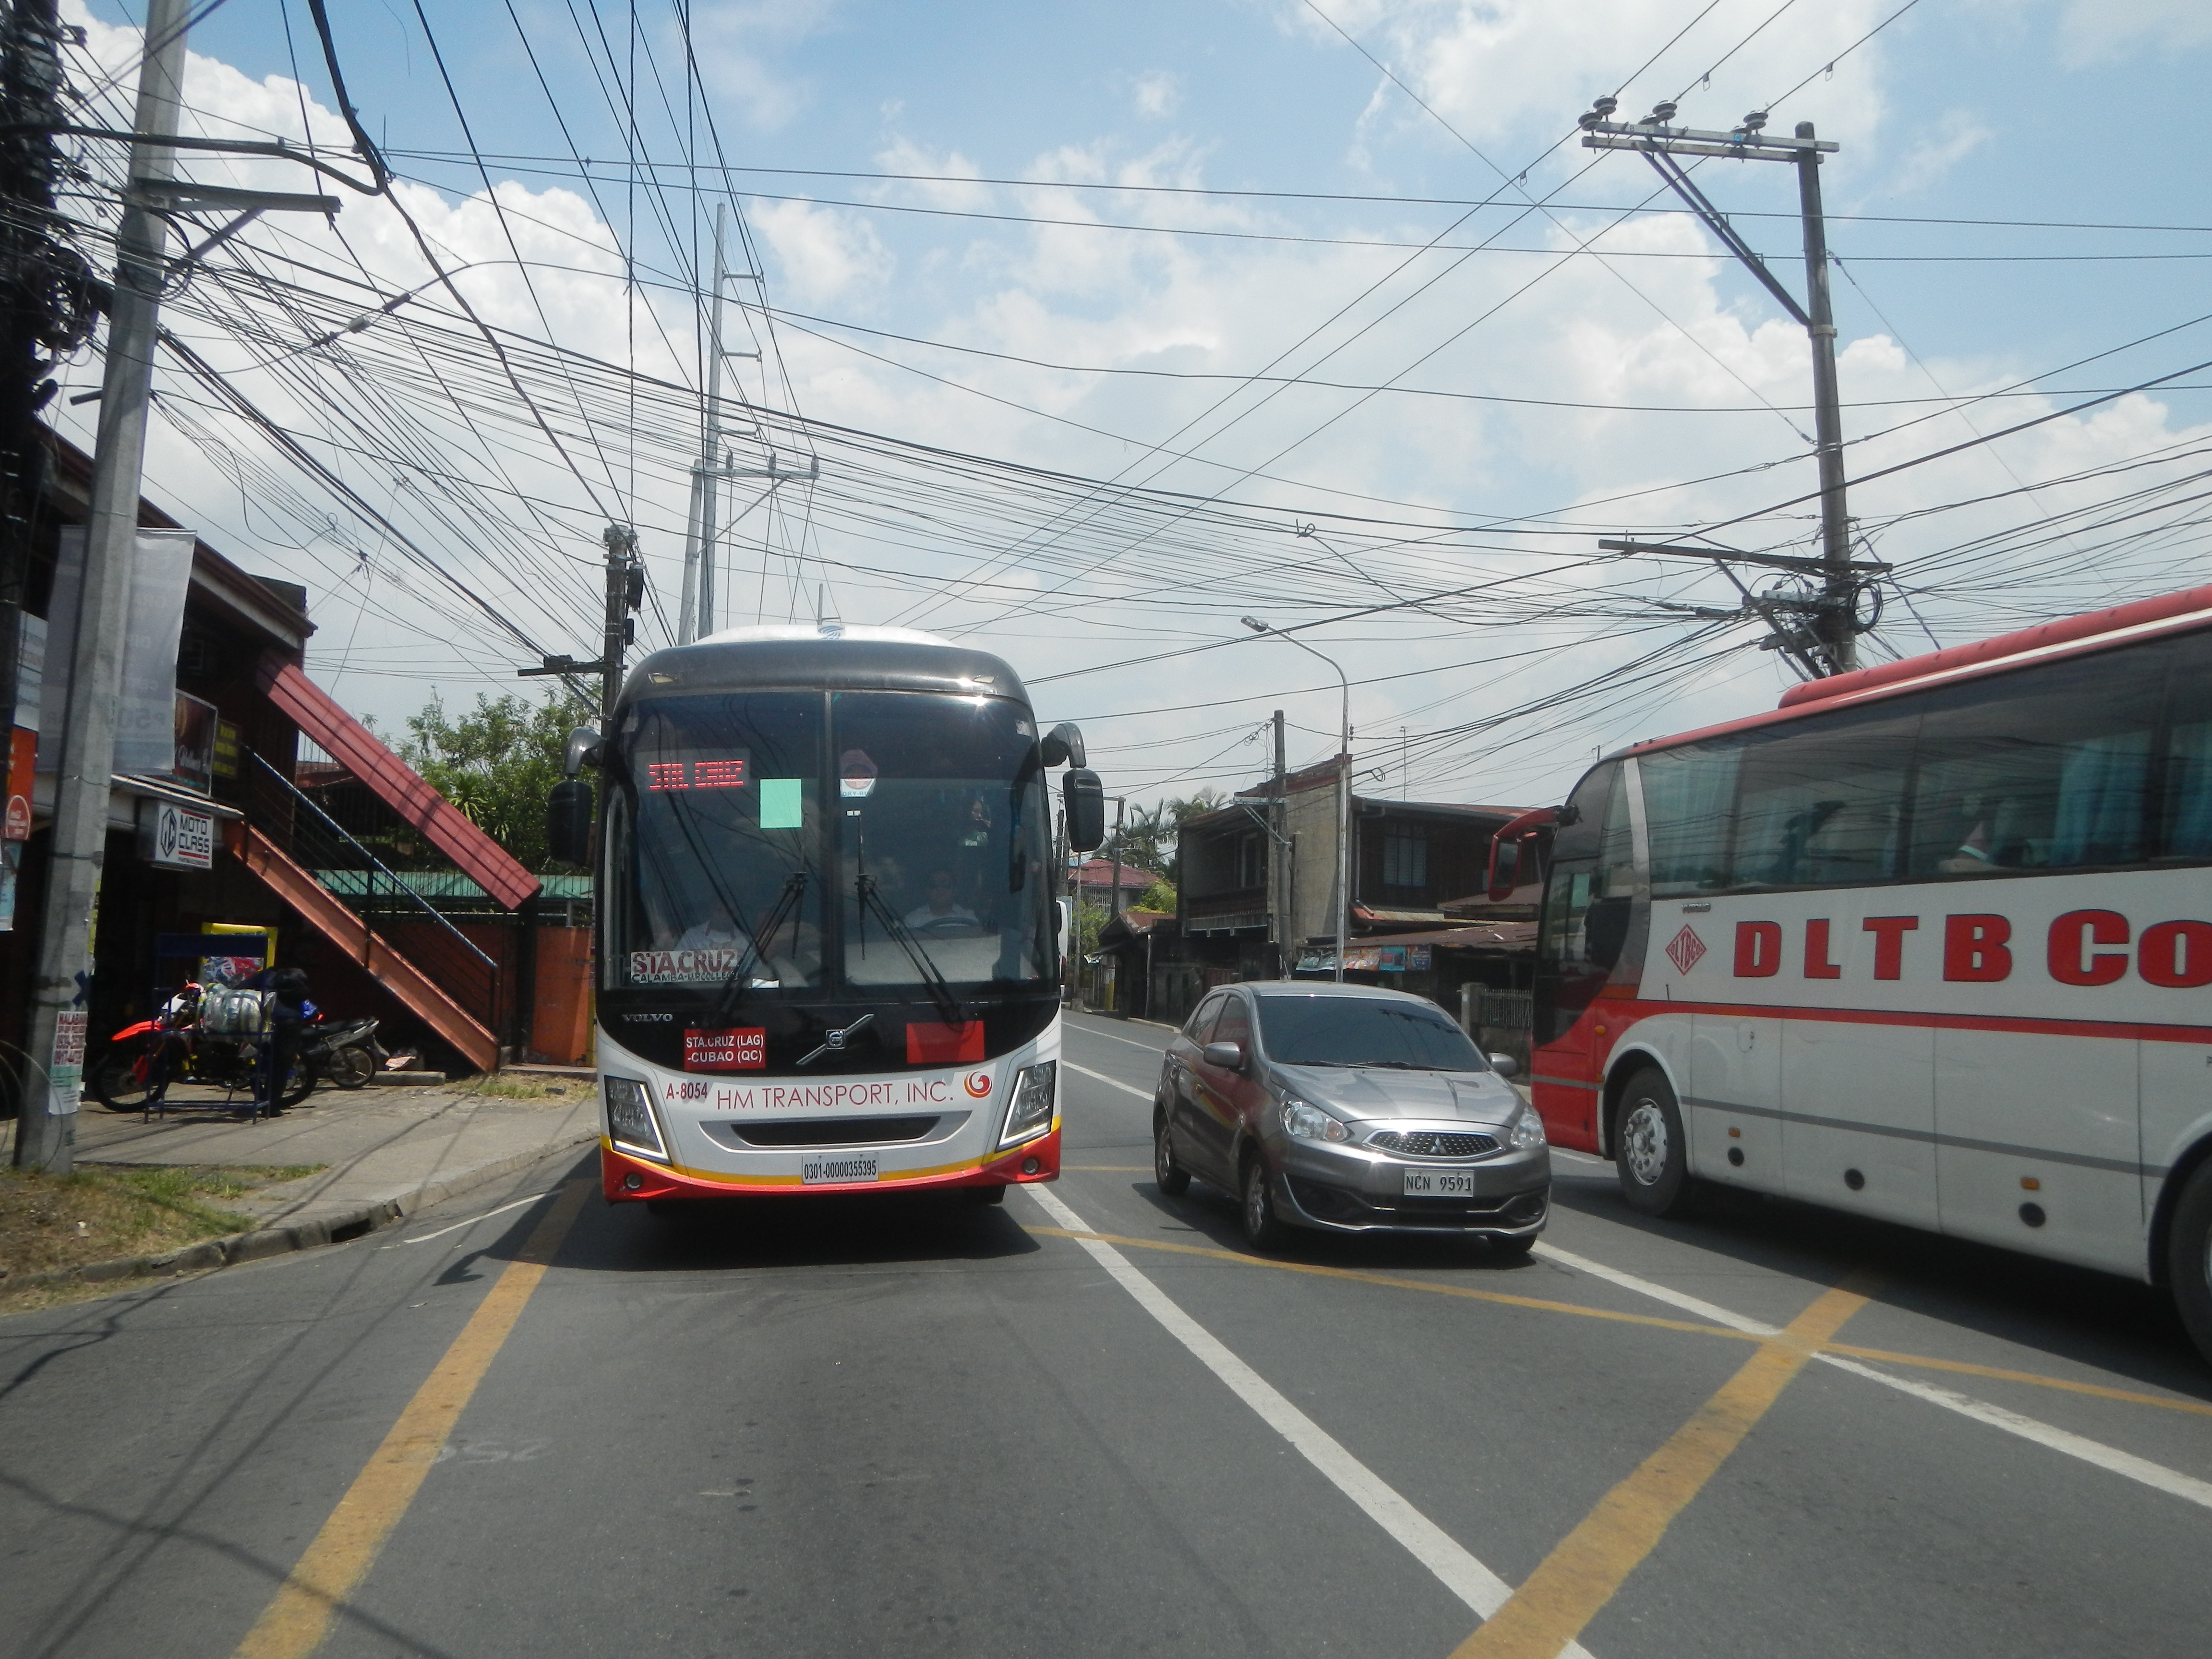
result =
M1298 1225L1526 1254L1551 1208L1551 1148L1511 1068L1402 991L1223 987L1168 1044L1152 1170L1166 1197L1192 1177L1234 1194L1254 1250Z

